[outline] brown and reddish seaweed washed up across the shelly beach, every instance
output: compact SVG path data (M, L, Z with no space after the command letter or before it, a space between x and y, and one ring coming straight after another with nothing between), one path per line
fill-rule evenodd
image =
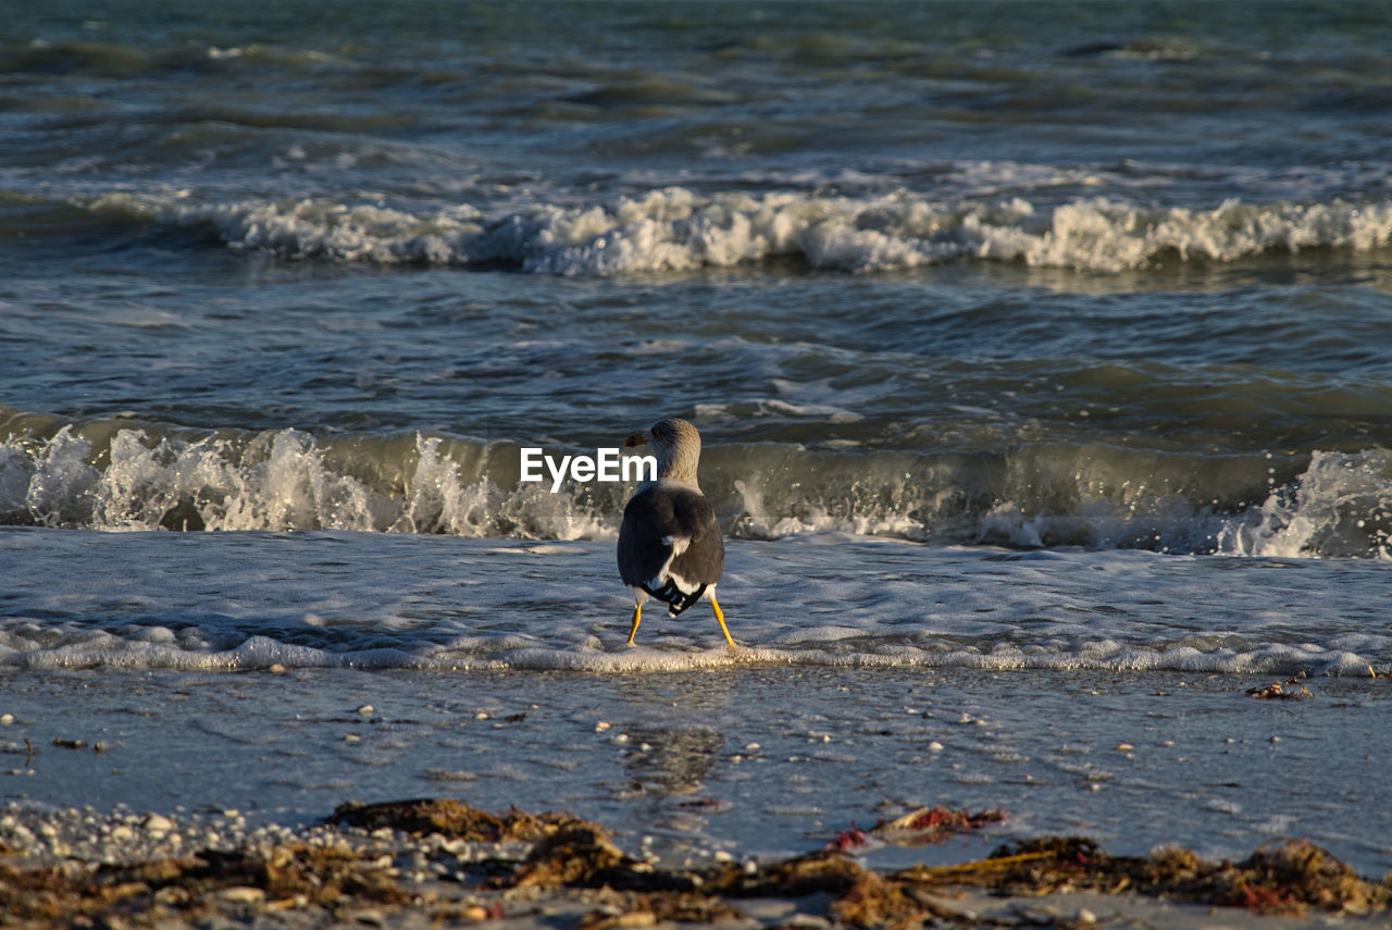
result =
M959 823L938 813L922 823L910 817L908 826L947 821L974 828L976 823L998 823L997 814L966 814ZM859 930L1037 922L1029 913L955 912L941 901L966 887L1031 897L1073 890L1134 892L1263 915L1297 916L1311 909L1368 915L1392 908L1392 883L1361 878L1303 841L1270 842L1235 863L1208 862L1187 849L1112 856L1091 840L1044 837L1005 844L976 862L919 865L883 874L837 848L761 865L660 869L628 856L603 827L571 814L509 810L494 816L454 801L344 805L333 823L358 830L124 866L0 863L0 923L178 927L221 916L288 927L352 919L361 908L420 913L436 924L477 923L507 917L519 902L539 897L579 901L587 908L576 917L576 930L731 920L741 917L739 902L750 898L803 902L799 906L817 902L835 924ZM391 831L390 840L383 830ZM455 840L532 846L498 873L498 859L455 859L447 851ZM429 878L397 867L398 856L448 862L457 872L450 880ZM281 923L276 923L277 915L284 915ZM290 915L301 915L301 923L285 923Z

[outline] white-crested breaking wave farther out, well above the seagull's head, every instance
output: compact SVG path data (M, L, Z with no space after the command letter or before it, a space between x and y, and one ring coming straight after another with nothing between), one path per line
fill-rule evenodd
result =
M420 210L334 199L189 203L107 194L85 210L206 227L232 249L284 259L505 266L561 276L689 271L793 258L869 273L958 260L1116 273L1157 262L1233 262L1392 242L1392 200L1141 206L1098 196L1065 203L1013 196L937 202L903 191L696 194L682 187L575 206L537 203L489 216L458 205Z

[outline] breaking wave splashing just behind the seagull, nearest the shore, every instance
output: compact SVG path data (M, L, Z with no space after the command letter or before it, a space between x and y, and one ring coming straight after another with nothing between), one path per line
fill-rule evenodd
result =
M934 544L1392 557L1392 451L1317 451L1279 462L1279 478L1276 464L1096 443L977 454L738 444L707 448L703 482L727 532L745 539L835 530ZM419 433L193 434L104 420L11 427L0 441L0 523L10 525L604 539L631 491L592 482L553 494L519 480L516 444Z

